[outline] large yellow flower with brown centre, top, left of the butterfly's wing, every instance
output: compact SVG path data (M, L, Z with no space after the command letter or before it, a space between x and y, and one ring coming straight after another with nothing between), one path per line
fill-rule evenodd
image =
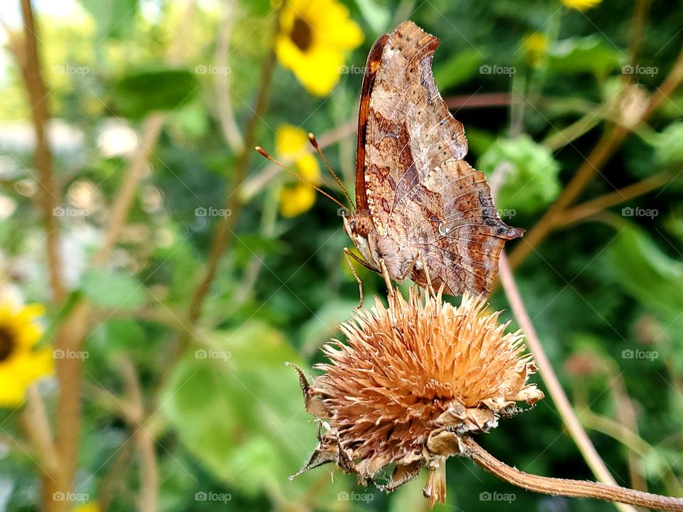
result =
M308 92L325 96L339 81L346 54L362 41L360 26L337 0L289 0L275 52Z

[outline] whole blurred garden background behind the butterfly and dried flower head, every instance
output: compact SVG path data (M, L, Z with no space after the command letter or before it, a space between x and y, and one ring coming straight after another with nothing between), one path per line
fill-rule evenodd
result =
M510 262L600 457L683 496L681 2L31 4L0 4L0 511L427 508L424 475L287 479L316 427L284 363L313 371L358 287L338 206L253 151L342 201L306 133L352 191L366 55L408 18L527 230ZM594 479L549 398L480 442ZM437 508L615 509L460 459Z

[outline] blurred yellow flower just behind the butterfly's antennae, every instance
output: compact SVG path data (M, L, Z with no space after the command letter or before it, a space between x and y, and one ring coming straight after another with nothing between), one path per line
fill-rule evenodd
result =
M304 151L308 145L308 135L291 124L283 124L275 132L277 154L282 159L294 161L295 172L317 185L320 182L320 168L315 157ZM314 205L315 196L316 191L307 183L288 183L280 191L280 213L285 217L300 215Z

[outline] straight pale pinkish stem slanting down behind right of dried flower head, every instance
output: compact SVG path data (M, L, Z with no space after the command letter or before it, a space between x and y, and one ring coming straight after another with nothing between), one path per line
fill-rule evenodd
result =
M591 471L593 471L595 477L605 484L616 485L614 477L610 474L603 459L600 458L600 455L595 450L593 443L591 443L591 439L589 439L588 434L586 434L586 430L583 430L581 422L578 420L578 417L576 417L576 413L572 409L571 403L569 403L567 395L562 389L562 385L557 378L555 370L553 369L548 356L546 356L541 341L539 341L539 337L536 335L534 324L531 323L529 314L526 313L524 302L519 294L519 289L517 289L517 284L514 282L512 269L510 268L505 252L500 253L499 269L503 289L505 290L508 302L512 307L514 317L517 319L517 323L522 331L524 331L524 336L527 343L529 343L531 353L534 354L534 360L539 366L541 378L543 378L544 383L546 383L548 393L557 407L564 425L566 425L569 434L576 443L581 455L583 455L583 459L591 468ZM621 508L622 512L635 512L630 507L619 506L619 508Z

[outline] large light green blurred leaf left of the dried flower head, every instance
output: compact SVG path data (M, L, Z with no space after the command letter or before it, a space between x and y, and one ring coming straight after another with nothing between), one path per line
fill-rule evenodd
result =
M166 416L217 478L251 496L265 491L295 501L320 477L287 481L316 444L297 375L285 366L299 356L279 332L255 321L201 341L163 391Z

